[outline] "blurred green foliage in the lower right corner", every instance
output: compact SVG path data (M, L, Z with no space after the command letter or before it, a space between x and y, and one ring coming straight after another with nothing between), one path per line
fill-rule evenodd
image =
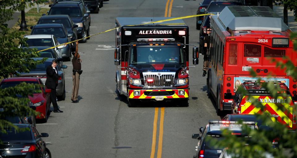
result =
M296 39L296 37L297 33L291 34L291 39ZM294 50L297 51L296 40L294 41ZM290 60L286 63L278 62L277 66L285 67L286 71L291 72L292 77L297 77L296 67ZM255 72L251 72L251 74L256 76ZM260 79L258 80L258 83L260 83ZM284 93L279 93L282 91L280 87L275 86L272 82L262 83L262 87L267 89L274 98L284 96ZM248 93L242 87L239 87L238 91L243 95ZM263 105L258 100L254 100L252 104L264 111ZM283 106L277 106L279 110L286 110ZM296 120L297 107L296 105L294 106L293 113L294 119ZM251 130L250 128L247 128L246 124L243 124L243 133L246 133L249 136L248 139L244 137L236 137L235 135L232 135L230 131L224 130L222 133L224 133L226 139L222 141L213 140L212 143L217 146L227 147L229 153L233 153L240 158L262 158L265 157L265 153L272 154L274 158L297 157L296 131L289 130L285 125L278 121L273 122L270 119L271 116L269 114L263 113L257 115L257 118L262 120L262 126L259 127L259 130ZM278 139L278 144L276 144L276 148L273 148L272 142L276 139Z

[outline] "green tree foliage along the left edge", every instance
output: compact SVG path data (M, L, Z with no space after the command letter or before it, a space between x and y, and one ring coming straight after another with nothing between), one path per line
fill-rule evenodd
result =
M30 53L36 52L37 49L24 51L18 48L22 44L28 46L25 43L26 39L20 37L25 32L11 31L7 28L7 24L5 24L8 20L12 19L11 17L15 11L24 10L24 8L31 6L30 3L27 6L25 2L31 1L0 1L0 79L19 75L20 72L29 72L30 68L34 68L37 64L45 61L45 59L37 61L31 59L40 56L39 53ZM43 0L37 0L35 2L42 3ZM36 89L35 86L22 83L16 87L0 89L0 132L5 132L4 128L13 127L11 123L4 120L6 116L37 115L36 111L26 106L28 101L30 101L28 95L32 94L32 90ZM16 129L18 130L18 128Z

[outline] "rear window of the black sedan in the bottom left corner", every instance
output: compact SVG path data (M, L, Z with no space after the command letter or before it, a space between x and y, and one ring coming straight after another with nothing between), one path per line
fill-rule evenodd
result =
M20 127L22 128L22 127ZM14 128L6 129L7 134L0 133L0 140L2 141L19 141L31 140L31 131L16 132Z

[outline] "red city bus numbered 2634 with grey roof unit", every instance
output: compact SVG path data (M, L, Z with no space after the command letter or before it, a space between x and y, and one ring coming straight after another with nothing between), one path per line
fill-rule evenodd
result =
M278 62L291 60L296 66L296 52L289 39L290 28L269 7L226 6L213 15L210 39L207 87L217 103L217 113L231 110L231 96L243 80L272 80L285 83L297 100L297 79ZM287 59L285 59L285 57ZM250 69L257 74L250 75Z

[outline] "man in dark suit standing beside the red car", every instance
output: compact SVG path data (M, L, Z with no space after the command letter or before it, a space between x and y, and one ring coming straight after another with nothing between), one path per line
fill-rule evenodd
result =
M46 67L46 81L45 86L51 89L50 92L50 100L53 103L54 112L63 112L59 110L57 104L57 94L56 94L56 87L58 86L58 70L57 70L57 63L56 59L52 60L52 64Z

